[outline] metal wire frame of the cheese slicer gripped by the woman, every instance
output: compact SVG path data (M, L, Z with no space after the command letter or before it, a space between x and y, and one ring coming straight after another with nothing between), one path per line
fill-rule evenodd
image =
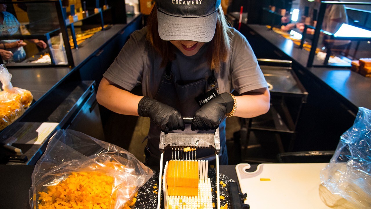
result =
M192 118L184 117L184 123L191 123ZM191 151L190 153L185 153L183 148L214 148L216 156L216 189L217 189L217 209L220 209L220 190L219 190L219 152L220 152L220 137L219 128L215 129L213 134L179 134L179 133L164 133L161 131L160 134L160 177L158 180L158 199L157 199L157 209L160 209L161 205L161 189L162 189L162 171L164 166L164 151L165 148L170 147L172 152L172 160L190 160L196 161L196 151ZM170 148L167 148L169 150ZM201 166L200 166L201 165ZM207 161L198 161L199 175L202 175L206 183L207 182ZM165 171L167 170L168 162L165 164ZM178 169L178 167L177 167ZM175 169L174 169L175 172ZM185 171L178 171L185 172ZM199 177L201 179L201 177ZM175 181L175 178L174 178ZM164 177L164 186L167 185L166 179ZM210 189L209 189L210 190ZM211 192L211 191L210 191ZM210 193L211 194L211 193ZM188 198L188 197L187 197ZM164 192L164 204L166 205L167 199Z

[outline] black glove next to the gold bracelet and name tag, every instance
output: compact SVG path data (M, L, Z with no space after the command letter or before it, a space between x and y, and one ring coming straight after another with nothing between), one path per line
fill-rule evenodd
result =
M233 104L234 100L229 93L219 94L196 111L191 129L208 131L218 128L224 115L232 111Z

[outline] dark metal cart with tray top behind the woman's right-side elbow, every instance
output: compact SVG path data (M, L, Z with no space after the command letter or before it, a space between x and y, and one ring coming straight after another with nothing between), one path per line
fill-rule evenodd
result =
M296 138L296 124L299 120L302 105L306 103L308 97L308 92L302 86L292 68L285 67L290 66L291 62L260 59L259 64L269 84L270 109L264 115L244 119L247 129L246 141L243 143L244 157L247 157L249 153L247 149L251 149L248 148L250 134L254 133L256 138L258 132L260 132L260 136L268 137L260 138L265 143L267 143L267 140L278 143L279 153L292 150ZM265 64L269 64L269 66ZM285 138L285 143L282 142L282 137ZM250 156L245 160L252 162L254 159Z

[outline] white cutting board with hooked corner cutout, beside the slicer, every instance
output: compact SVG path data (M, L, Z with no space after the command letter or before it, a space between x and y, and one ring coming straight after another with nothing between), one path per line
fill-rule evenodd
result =
M319 197L319 172L327 163L236 165L245 204L251 209L329 209ZM260 179L270 179L261 181Z

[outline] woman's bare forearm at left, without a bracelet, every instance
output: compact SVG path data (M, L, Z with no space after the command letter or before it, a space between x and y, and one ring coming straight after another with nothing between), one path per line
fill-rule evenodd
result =
M138 103L142 96L119 89L103 78L99 84L96 99L99 104L113 112L123 115L138 115Z

